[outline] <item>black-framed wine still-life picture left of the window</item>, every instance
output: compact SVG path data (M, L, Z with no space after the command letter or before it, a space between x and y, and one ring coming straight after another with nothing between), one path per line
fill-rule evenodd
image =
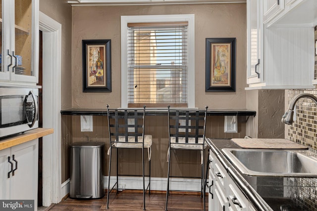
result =
M83 40L83 92L111 91L111 40Z

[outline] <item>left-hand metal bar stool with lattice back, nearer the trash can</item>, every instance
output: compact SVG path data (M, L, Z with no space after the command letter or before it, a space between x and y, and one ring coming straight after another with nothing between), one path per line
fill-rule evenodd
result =
M107 105L107 119L109 130L110 147L108 149L109 155L109 171L108 171L108 190L107 190L107 209L109 209L109 193L116 185L118 192L118 149L142 149L142 177L143 177L143 210L145 209L145 194L149 189L151 194L151 146L152 135L145 135L145 108L143 109L109 109ZM132 122L132 123L131 123ZM149 174L144 172L144 148L148 149L149 160ZM111 154L112 149L117 151L117 166L116 166L116 182L110 190L110 169L111 169ZM136 175L134 175L136 176ZM149 184L145 187L145 176L149 177Z

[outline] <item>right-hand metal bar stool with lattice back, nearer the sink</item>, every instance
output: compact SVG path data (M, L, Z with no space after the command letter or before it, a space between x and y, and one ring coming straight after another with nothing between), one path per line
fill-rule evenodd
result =
M204 179L204 149L207 147L205 140L206 131L206 118L208 106L205 110L191 110L191 109L170 109L168 110L168 134L169 134L169 147L167 151L168 169L167 169L167 189L166 189L166 203L165 211L167 211L167 200L169 194L169 177L171 176L170 163L171 163L171 150L198 150L201 152L201 195L204 199L205 211L205 179ZM185 176L183 176L185 177Z

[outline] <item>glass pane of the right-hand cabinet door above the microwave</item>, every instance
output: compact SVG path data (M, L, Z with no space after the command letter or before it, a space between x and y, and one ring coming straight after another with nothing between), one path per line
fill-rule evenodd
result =
M16 75L34 76L32 70L32 0L15 0L15 64Z

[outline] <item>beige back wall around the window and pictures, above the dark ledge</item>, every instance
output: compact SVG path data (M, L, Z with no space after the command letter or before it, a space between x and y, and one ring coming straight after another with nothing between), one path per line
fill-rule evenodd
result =
M121 15L195 14L195 104L246 108L246 3L73 6L72 107L121 106ZM236 38L236 92L205 92L206 38ZM112 92L82 92L82 40L110 39Z

